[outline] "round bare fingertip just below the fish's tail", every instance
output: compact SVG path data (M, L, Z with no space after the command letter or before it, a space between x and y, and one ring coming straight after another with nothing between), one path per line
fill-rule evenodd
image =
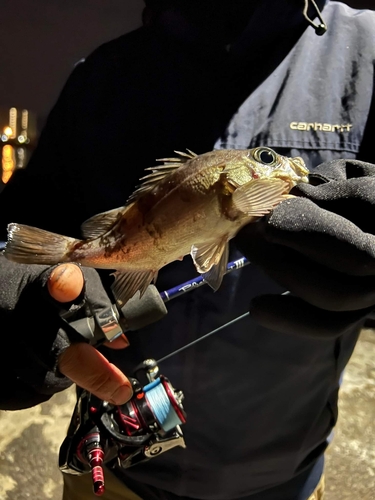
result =
M85 281L81 268L76 264L60 264L52 269L47 280L51 297L58 302L72 302L82 293Z

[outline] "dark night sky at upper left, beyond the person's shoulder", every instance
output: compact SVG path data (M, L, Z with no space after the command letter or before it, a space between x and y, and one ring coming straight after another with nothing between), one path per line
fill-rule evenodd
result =
M375 8L375 0L345 3ZM143 5L142 0L0 0L0 108L27 108L42 123L74 63L140 26Z

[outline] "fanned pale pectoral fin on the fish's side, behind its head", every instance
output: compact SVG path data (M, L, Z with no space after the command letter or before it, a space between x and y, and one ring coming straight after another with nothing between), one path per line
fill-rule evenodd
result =
M281 179L253 179L237 188L232 195L234 208L250 216L268 214L288 191L288 183Z

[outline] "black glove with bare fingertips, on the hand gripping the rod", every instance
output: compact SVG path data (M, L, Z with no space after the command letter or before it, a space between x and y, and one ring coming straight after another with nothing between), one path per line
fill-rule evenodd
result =
M69 323L111 307L98 273L89 268L81 268L85 287L74 302L53 300L46 286L53 269L15 264L0 255L2 409L33 406L71 385L57 370L58 356L72 341L91 339Z

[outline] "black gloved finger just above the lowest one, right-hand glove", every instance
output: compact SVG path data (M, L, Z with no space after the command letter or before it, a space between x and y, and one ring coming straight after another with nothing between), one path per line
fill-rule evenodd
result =
M269 243L262 233L259 235L253 229L251 232L251 244L248 232L244 245L241 246L241 239L237 242L240 250L293 295L330 311L365 309L375 304L375 281L372 276L340 273L294 249Z

